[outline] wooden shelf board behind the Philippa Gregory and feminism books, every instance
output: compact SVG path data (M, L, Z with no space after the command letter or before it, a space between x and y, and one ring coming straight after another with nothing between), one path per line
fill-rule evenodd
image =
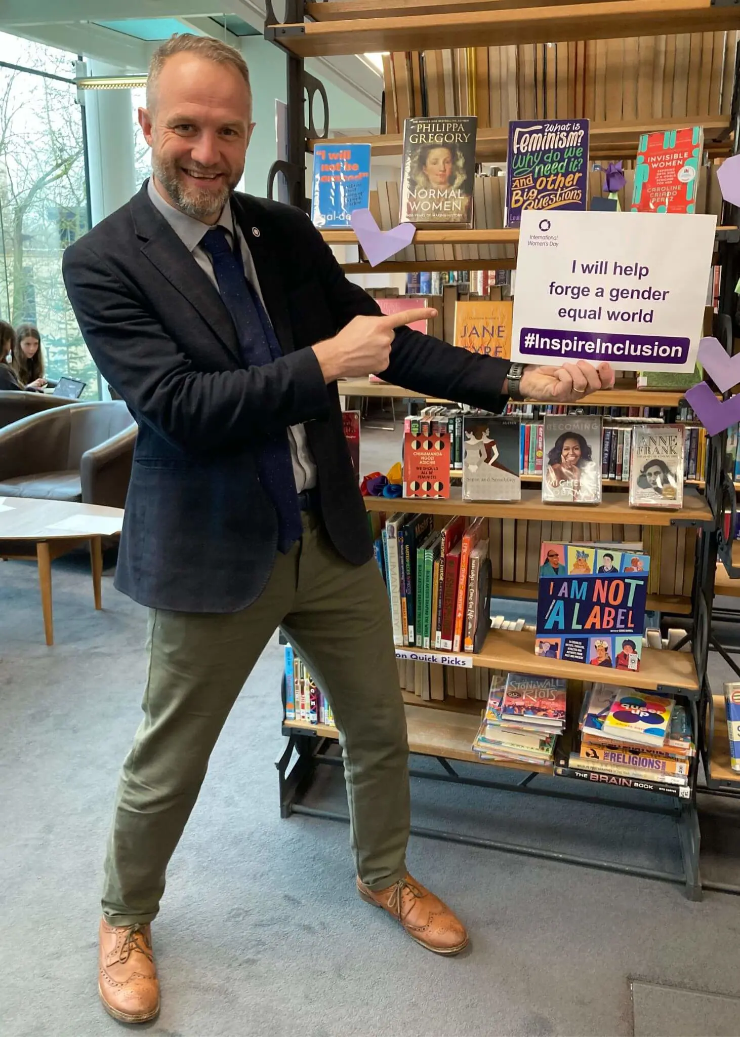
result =
M370 0L374 3L374 0ZM486 3L491 0L485 0ZM350 0L351 6L357 6L358 0ZM330 3L309 4L310 7L345 7L341 0L331 0ZM336 17L336 16L333 16ZM626 159L637 151L641 134L666 130L680 130L686 125L704 127L704 150L709 155L729 155L732 151L732 138L727 133L730 119L727 115L696 115L693 118L682 119L643 119L641 121L624 122L591 122L589 127L589 158ZM722 134L724 138L718 140ZM401 155L403 150L402 134L368 134L344 139L310 140L308 146L313 150L315 145L341 147L351 139L353 144L370 144L373 158L388 158ZM478 162L506 162L509 144L509 128L480 129L476 138L476 159ZM477 269L477 268L476 268Z

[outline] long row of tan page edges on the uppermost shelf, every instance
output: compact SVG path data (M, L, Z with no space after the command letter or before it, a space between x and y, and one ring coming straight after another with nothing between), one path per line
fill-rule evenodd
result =
M521 44L383 55L386 132L412 115L596 122L729 114L738 33Z

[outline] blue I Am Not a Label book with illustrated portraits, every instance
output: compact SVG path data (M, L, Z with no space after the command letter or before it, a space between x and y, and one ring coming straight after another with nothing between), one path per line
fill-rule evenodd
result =
M649 572L648 555L610 546L543 543L536 653L638 670Z

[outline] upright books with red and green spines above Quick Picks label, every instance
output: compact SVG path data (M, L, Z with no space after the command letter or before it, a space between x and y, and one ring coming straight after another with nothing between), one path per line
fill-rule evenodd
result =
M491 565L484 518L398 511L374 541L397 645L480 651L488 630Z

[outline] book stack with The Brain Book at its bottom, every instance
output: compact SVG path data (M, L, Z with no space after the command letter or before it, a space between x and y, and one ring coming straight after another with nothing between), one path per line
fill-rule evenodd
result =
M688 796L695 747L682 703L597 683L584 699L578 728L578 750L557 774Z

